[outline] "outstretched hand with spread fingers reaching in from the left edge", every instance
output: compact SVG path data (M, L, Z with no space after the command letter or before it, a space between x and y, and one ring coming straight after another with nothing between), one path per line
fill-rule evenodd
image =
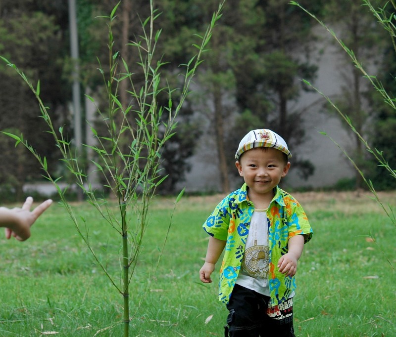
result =
M0 207L0 227L5 227L5 237L7 239L11 235L19 241L28 239L30 237L30 227L49 208L52 200L49 199L30 211L32 204L33 198L28 197L22 208L7 209L6 207Z

